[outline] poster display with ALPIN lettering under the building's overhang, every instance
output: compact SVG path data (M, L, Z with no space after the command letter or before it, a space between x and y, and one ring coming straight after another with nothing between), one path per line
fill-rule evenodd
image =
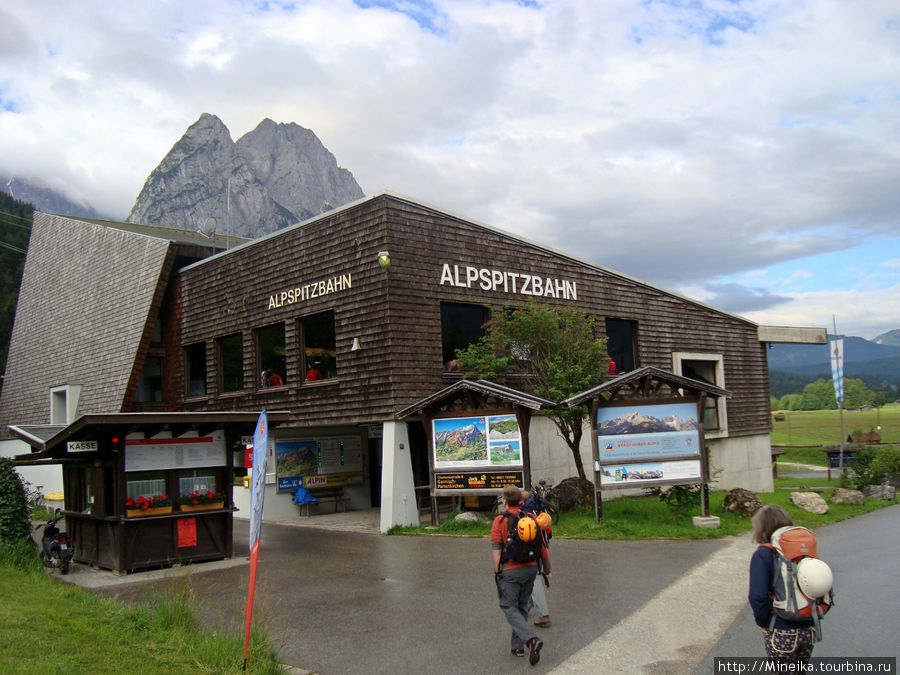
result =
M279 491L362 483L359 436L275 441L275 475Z

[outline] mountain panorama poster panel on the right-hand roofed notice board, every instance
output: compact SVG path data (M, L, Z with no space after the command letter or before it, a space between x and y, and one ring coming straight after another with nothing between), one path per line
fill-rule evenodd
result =
M699 483L703 446L695 401L597 411L597 466L605 488Z

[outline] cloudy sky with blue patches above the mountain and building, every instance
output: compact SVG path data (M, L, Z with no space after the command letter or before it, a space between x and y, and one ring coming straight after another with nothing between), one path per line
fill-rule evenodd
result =
M896 0L0 3L0 173L124 219L204 112L759 323L900 328Z

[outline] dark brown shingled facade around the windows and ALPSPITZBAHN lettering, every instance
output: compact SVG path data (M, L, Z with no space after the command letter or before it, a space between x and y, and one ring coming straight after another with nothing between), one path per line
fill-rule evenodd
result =
M379 251L391 265L379 267ZM757 326L649 284L524 241L488 226L393 195L379 195L282 230L180 273L182 345L204 342L207 396L188 410L278 409L291 426L372 424L452 382L443 373L441 303L521 305L527 294L441 283L444 265L571 281L574 303L596 315L635 322L636 365L672 370L673 352L720 355L729 436L767 433L768 375ZM351 275L339 292L270 308L286 289ZM303 383L297 321L325 310L335 315L338 377ZM255 386L254 329L284 322L287 384ZM216 339L244 336L245 390L220 395ZM351 350L354 338L360 349Z

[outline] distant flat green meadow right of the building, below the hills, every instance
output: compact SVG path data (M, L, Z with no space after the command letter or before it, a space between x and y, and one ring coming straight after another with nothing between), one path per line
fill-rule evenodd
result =
M773 410L785 415L772 422L772 444L788 446L840 445L841 414L838 410ZM900 443L900 405L891 403L872 411L844 411L844 438L853 431L881 427L882 443Z

